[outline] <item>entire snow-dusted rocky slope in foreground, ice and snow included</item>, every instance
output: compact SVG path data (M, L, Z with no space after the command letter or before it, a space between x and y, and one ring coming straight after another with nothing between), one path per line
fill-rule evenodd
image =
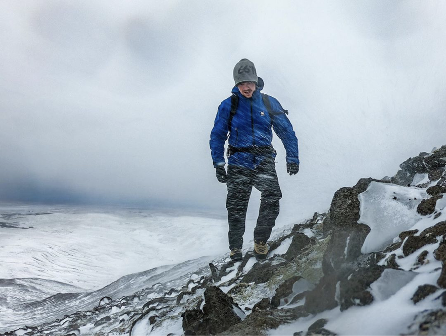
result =
M241 262L214 254L130 274L93 292L32 301L51 294L43 284L19 302L16 290L0 310L0 330L35 325L8 336L444 335L445 159L443 146L402 163L392 178L339 189L328 213L276 231L263 262L248 247ZM7 291L15 282L4 282Z

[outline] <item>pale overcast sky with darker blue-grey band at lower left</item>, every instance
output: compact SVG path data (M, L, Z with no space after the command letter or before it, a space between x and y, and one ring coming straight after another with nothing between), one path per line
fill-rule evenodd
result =
M299 138L293 177L274 140L282 211L326 210L446 144L444 18L421 0L2 1L0 199L223 213L209 135L248 58Z

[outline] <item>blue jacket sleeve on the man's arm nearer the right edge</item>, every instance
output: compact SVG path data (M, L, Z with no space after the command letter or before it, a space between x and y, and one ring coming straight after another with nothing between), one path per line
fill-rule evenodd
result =
M292 129L291 122L288 117L286 117L285 110L277 101L277 99L270 97L271 104L273 105L273 110L275 111L272 118L272 125L274 132L282 140L283 146L286 151L286 162L287 163L298 163L299 164L299 145L298 138L294 130Z

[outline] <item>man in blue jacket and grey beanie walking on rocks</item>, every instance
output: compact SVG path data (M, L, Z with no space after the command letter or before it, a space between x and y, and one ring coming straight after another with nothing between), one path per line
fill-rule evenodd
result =
M280 103L260 93L263 80L254 63L242 59L235 65L232 96L218 107L211 132L211 155L219 182L226 183L229 223L229 249L232 260L242 258L246 209L253 186L261 193L261 204L254 230L254 254L258 260L268 254L266 244L279 215L282 197L271 145L272 130L286 150L289 175L299 172L298 139ZM229 136L227 136L229 132ZM224 145L228 139L228 173L225 171Z

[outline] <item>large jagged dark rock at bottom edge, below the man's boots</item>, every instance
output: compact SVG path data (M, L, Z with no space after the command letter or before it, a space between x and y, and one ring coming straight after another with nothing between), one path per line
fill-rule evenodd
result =
M206 303L203 312L193 309L182 314L185 333L193 331L196 336L211 336L240 323L240 317L234 312L234 307L239 308L230 296L215 286L208 287L204 296Z

